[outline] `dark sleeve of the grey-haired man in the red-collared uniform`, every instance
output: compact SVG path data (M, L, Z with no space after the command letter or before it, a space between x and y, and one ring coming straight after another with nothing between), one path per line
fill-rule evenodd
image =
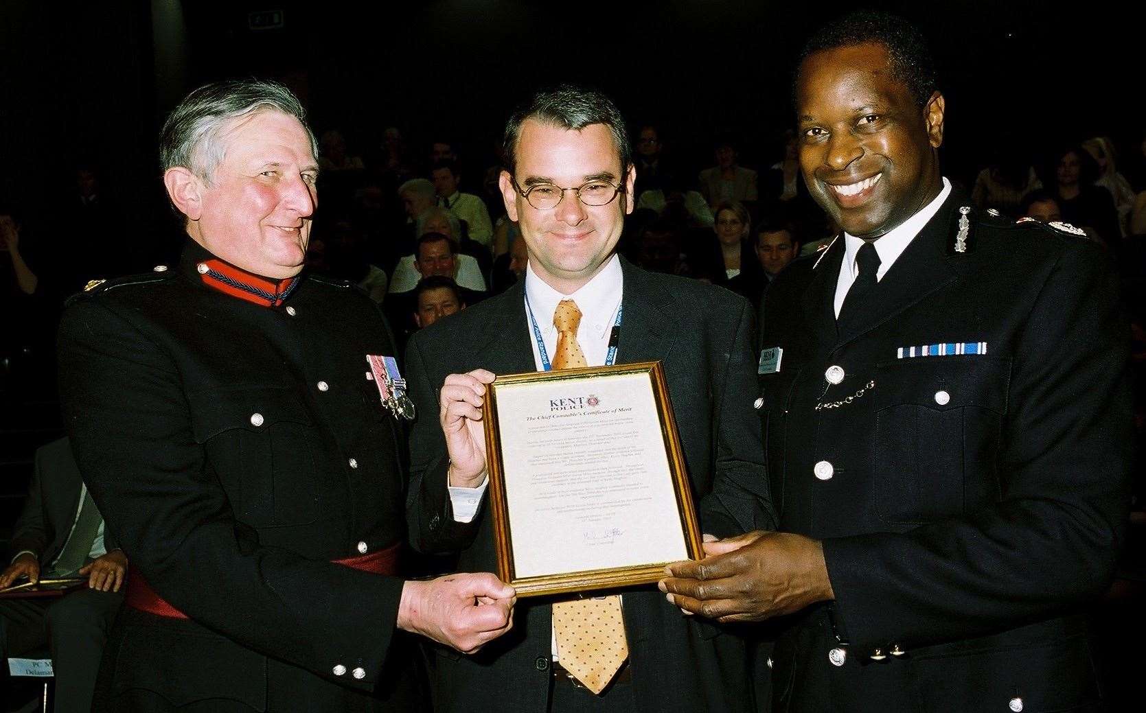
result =
M236 522L194 438L173 358L129 314L96 299L72 304L61 324L60 382L76 460L133 571L242 645L372 689L403 581L262 545ZM335 678L339 664L366 676Z

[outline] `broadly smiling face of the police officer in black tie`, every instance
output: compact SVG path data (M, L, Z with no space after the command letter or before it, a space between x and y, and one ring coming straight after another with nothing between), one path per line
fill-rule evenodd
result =
M943 95L925 106L892 76L877 43L829 49L800 65L800 167L813 197L843 230L873 239L943 188Z

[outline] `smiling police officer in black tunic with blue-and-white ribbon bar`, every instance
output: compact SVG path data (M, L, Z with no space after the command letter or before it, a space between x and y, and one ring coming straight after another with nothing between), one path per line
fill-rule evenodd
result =
M995 224L952 191L931 66L881 14L806 49L800 163L843 235L769 293L803 312L766 318L782 532L662 586L722 621L785 616L777 710L1093 710L1080 611L1128 509L1115 283L1069 227Z

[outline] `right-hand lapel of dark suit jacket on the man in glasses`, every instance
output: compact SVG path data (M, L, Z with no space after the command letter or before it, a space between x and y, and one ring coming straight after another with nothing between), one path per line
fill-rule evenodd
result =
M673 309L673 295L658 285L649 272L621 258L625 286L621 335L617 344L617 362L665 361L672 350L670 334L681 328Z

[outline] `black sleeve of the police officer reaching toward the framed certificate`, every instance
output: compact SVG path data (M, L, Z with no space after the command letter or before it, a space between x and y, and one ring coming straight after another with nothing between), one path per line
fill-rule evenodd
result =
M1129 508L1127 338L1105 256L1075 241L1015 344L997 502L909 532L824 541L853 644L966 639L1105 591Z

